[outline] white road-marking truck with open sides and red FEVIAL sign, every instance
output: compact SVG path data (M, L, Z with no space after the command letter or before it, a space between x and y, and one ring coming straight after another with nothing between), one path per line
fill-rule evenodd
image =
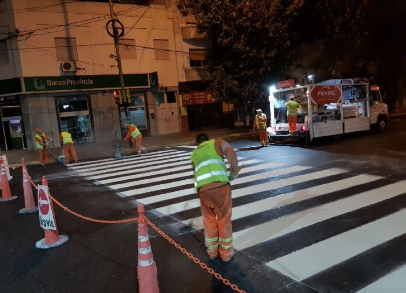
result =
M382 102L379 87L370 85L367 79L329 79L303 86L292 83L279 82L285 87L269 90L270 127L267 133L272 142L289 134L285 103L291 96L299 104L293 137L306 144L318 137L340 138L342 134L357 131L385 130L388 106Z

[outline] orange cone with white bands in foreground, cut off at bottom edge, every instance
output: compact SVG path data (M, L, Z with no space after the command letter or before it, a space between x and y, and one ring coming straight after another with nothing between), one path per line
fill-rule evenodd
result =
M143 204L137 207L138 217L144 218ZM147 223L138 222L138 283L140 293L159 293L156 264L152 255Z

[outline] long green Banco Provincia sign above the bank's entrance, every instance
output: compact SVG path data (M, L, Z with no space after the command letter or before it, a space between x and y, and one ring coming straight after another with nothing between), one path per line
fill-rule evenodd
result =
M149 74L124 74L126 88L149 87ZM88 89L118 89L119 75L70 75L24 77L25 93Z

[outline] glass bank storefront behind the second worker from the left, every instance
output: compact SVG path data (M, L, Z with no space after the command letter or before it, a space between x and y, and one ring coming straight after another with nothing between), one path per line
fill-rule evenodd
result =
M60 128L72 135L74 143L93 142L87 97L58 98Z

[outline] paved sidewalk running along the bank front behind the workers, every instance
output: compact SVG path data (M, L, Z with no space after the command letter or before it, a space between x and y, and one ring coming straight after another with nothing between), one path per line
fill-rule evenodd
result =
M247 128L235 129L216 129L199 131L198 133L206 133L209 138L222 138L225 140L234 139L239 137L247 137L256 135L255 132ZM180 146L180 145L194 145L196 142L196 132L189 133L175 133L158 136L143 137L143 146L147 151L163 149L165 147ZM88 144L75 144L76 153L78 154L79 161L86 161L90 159L109 158L114 157L115 145L121 144L121 154L136 154L137 150L131 147L127 141L116 141L108 143L88 143ZM62 154L62 148L56 147L50 150L55 155ZM39 155L37 150L10 150L3 151L2 155L7 155L7 160L10 165L21 163L21 158L25 159L26 164L39 164ZM56 162L56 158L48 151L49 159Z

